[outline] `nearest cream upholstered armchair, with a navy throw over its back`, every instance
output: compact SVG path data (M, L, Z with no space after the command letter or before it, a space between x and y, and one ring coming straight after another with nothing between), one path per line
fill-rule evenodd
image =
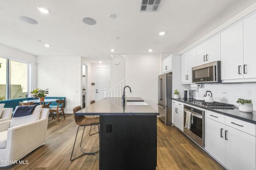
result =
M27 118L30 119L32 115L13 117L12 120L0 122L0 167L17 164L15 161L19 162L21 158L45 143L49 109L40 108L38 120L30 120L28 123Z

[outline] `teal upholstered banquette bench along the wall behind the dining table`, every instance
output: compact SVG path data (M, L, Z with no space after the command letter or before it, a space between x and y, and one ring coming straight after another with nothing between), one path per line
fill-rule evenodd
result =
M66 97L45 97L44 99L59 99L59 100L64 99L63 107L65 108ZM14 112L16 106L19 106L20 102L23 102L23 101L26 101L26 100L33 100L33 97L3 100L3 101L0 101L0 103L5 103L5 105L4 105L5 108L13 108L13 112ZM39 104L39 103L36 103L36 104ZM50 108L57 107L57 105L58 104L56 103L56 101L52 101L52 103L49 105L49 107Z

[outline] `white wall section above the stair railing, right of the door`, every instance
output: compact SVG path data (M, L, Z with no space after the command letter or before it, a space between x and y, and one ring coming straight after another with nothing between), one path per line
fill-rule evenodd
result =
M118 63L118 64L117 64ZM110 88L125 79L125 63L126 60L121 55L113 55L110 67Z

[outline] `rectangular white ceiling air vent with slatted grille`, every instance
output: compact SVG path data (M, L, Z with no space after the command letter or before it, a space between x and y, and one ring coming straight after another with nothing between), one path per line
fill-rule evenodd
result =
M139 12L158 12L162 0L140 0Z

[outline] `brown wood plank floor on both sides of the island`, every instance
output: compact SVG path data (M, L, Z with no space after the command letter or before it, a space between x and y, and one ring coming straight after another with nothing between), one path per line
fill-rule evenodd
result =
M58 123L57 119L52 120L49 118L46 143L22 158L24 161L27 160L28 164L12 165L4 169L98 170L99 160L94 155L85 155L74 161L70 161L77 127L78 126L74 123L74 117L71 114L66 116L66 120L64 120L61 115L60 123ZM156 170L224 169L176 127L165 126L158 120L157 128L158 150ZM89 136L89 130L90 127L87 127L82 144L86 152L99 149L98 134ZM81 134L82 129L80 130L80 136ZM77 149L74 151L77 155L81 154L78 147L76 147Z

